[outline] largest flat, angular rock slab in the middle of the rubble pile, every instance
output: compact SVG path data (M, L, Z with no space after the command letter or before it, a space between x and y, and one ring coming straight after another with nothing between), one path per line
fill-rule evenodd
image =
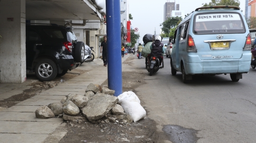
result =
M97 120L105 116L118 102L118 98L111 95L95 95L81 111L89 120Z

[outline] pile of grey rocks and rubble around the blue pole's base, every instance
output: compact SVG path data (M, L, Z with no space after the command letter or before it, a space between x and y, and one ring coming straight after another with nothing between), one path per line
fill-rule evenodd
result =
M114 90L89 84L84 95L70 93L60 102L41 106L36 110L37 118L63 118L73 123L131 123L133 118L124 112L113 96Z

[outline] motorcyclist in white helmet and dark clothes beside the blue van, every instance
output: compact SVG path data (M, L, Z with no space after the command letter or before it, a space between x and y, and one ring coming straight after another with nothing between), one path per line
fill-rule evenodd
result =
M152 42L152 44L150 45L150 57L151 56L155 56L159 59L159 65L161 66L162 64L162 60L163 60L163 56L162 54L165 53L165 48L164 48L164 44L161 43L162 41L162 37L160 35L156 35L155 36L155 41ZM150 57L148 59L150 59Z

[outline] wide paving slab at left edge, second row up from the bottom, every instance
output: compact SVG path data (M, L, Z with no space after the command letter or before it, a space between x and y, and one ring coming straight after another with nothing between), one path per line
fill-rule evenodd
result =
M61 122L0 121L0 133L50 134Z

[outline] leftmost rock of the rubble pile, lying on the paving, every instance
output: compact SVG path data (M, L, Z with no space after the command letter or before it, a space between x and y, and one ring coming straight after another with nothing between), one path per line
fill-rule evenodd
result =
M54 118L55 115L47 106L41 106L36 110L37 118Z

